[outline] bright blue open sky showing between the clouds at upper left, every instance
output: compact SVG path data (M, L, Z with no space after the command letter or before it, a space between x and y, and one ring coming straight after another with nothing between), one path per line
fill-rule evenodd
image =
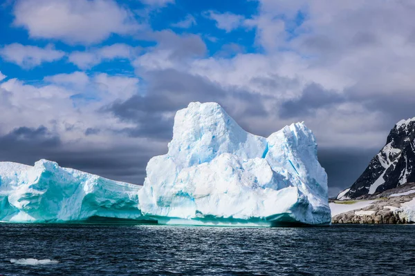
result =
M156 41L151 38L150 32L163 30L172 30L176 34L201 34L201 38L206 44L205 57L214 55L235 55L227 48L230 44L237 44L240 51L243 52L260 52L261 47L255 45L255 31L243 28L235 28L228 32L221 28L216 28L214 21L207 13L214 11L225 13L232 10L235 14L243 17L252 17L257 13L257 1L240 1L235 5L234 1L176 1L175 3L166 1L156 6L149 6L140 1L117 1L120 8L131 11L131 16L140 23L146 24L145 30L137 34L120 35L111 33L105 39L93 43L70 42L65 43L59 39L30 38L28 30L22 26L15 26L13 17L15 2L3 5L2 17L0 18L1 33L0 44L6 46L11 43L21 43L22 45L37 46L45 48L52 46L55 50L62 50L66 53L73 51L87 51L89 49L111 46L115 43L124 43L129 46L139 47L142 52L146 48L156 45ZM109 16L111 12L109 11ZM191 17L192 23L188 26L175 26L176 23L186 23ZM225 47L225 49L224 49ZM0 66L3 74L17 77L25 81L36 81L42 79L45 75L56 75L61 73L70 73L77 70L77 66L70 61L68 57L62 57L52 62L44 62L39 66L30 66L22 68L15 62L7 59L0 60ZM107 72L111 75L133 75L134 68L125 62L125 59L104 60L86 72Z

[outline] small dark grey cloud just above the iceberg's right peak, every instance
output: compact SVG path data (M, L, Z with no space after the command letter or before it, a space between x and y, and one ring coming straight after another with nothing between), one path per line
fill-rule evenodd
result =
M320 84L310 83L302 91L301 97L282 103L279 117L288 119L313 116L319 108L329 108L344 101L344 96L337 92L326 90Z

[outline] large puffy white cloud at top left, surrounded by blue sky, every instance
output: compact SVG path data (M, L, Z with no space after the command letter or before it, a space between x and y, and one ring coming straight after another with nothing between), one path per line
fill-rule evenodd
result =
M140 29L131 12L112 0L19 0L14 15L14 25L30 37L70 44L90 45Z

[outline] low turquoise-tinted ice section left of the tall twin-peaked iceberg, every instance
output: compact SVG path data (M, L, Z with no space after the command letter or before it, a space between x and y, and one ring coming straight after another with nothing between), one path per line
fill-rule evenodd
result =
M82 221L91 217L140 219L140 186L111 181L53 161L35 166L0 162L0 221Z

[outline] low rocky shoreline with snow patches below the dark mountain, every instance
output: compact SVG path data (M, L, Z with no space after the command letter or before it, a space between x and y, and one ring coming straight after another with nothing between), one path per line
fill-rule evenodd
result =
M371 200L371 201L369 201ZM405 184L387 190L378 195L366 195L358 200L331 200L331 206L348 204L351 208L356 203L368 202L364 208L347 210L333 215L332 224L414 224L412 206L407 204L415 200L415 183ZM346 207L346 206L341 206Z

